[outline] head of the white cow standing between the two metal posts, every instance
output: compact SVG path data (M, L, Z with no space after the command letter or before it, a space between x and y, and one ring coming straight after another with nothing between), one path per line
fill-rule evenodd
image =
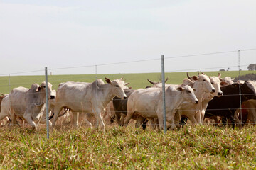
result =
M125 82L122 81L122 78L114 79L113 81L111 81L110 79L107 79L107 77L105 77L105 81L107 82L107 84L111 85L112 94L114 94L114 96L122 99L127 98L127 95L124 93Z

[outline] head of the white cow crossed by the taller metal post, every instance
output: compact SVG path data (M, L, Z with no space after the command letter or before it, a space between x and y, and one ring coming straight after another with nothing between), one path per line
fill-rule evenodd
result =
M177 90L183 92L183 98L189 103L198 103L198 99L194 94L194 91L196 91L196 89L192 89L191 86L186 85L183 87L178 87Z

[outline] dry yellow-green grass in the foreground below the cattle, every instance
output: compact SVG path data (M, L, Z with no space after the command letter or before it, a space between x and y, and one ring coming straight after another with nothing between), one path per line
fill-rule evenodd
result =
M256 169L256 128L0 128L0 169Z

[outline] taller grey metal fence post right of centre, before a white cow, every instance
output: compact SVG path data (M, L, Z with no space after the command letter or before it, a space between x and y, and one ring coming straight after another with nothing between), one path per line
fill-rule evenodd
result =
M165 77L164 77L164 55L161 56L161 77L163 91L163 117L164 117L164 133L166 133L166 98L165 98Z

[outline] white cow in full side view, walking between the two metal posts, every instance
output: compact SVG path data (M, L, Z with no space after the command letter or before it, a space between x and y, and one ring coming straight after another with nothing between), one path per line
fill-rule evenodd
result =
M61 83L57 89L55 114L52 120L52 128L58 119L58 114L62 108L70 108L73 112L94 114L97 125L105 130L105 124L102 120L102 111L104 111L107 103L114 96L126 98L124 94L124 81L115 79L111 81L105 78L107 84L102 79L97 79L92 83L85 82L65 82Z

